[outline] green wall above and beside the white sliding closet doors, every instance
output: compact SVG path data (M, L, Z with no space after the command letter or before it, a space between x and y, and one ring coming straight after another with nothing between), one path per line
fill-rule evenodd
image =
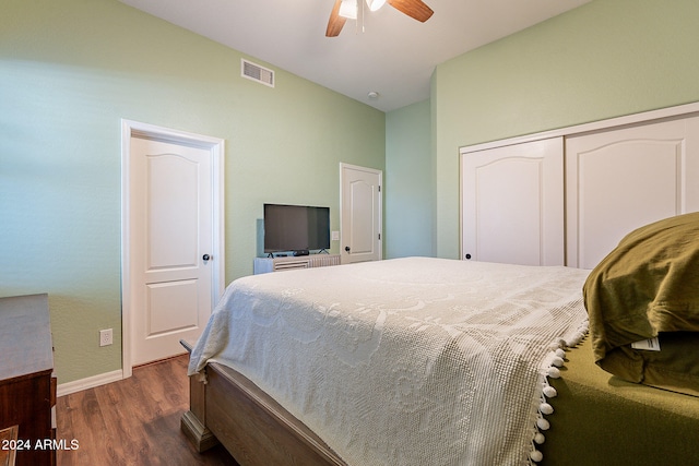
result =
M459 147L699 100L699 2L595 0L437 67L437 255L459 258Z

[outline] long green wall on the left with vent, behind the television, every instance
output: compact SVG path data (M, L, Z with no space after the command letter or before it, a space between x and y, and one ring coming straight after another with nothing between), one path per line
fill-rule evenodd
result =
M340 162L384 169L383 112L241 57L116 0L0 3L0 296L49 294L59 384L121 368L122 118L225 139L226 283L263 202L339 229Z

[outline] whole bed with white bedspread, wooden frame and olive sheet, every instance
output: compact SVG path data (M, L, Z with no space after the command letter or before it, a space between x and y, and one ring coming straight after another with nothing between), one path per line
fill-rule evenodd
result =
M191 348L182 429L244 466L699 457L687 441L698 398L623 382L589 358L600 338L585 337L585 287L597 276L406 258L240 278ZM653 418L683 432L638 422Z

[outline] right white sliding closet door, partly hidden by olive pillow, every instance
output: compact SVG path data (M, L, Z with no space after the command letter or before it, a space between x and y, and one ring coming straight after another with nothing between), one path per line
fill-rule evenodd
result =
M699 210L698 121L566 139L567 265L593 268L631 230Z

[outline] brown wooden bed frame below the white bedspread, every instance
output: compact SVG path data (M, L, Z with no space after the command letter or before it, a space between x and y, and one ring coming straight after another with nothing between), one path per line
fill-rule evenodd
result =
M181 342L191 354L192 346ZM212 362L189 378L181 429L199 452L222 443L240 466L346 466L325 443L239 372Z

